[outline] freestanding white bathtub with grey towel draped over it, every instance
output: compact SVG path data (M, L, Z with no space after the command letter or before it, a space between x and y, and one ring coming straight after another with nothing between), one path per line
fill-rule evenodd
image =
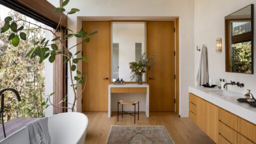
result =
M83 144L88 118L83 113L65 112L48 117L52 144ZM27 126L0 141L0 144L30 144ZM32 143L31 143L32 144Z

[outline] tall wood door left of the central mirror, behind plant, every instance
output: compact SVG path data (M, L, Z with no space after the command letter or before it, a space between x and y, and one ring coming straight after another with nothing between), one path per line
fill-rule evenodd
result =
M88 43L83 42L82 53L88 65L83 62L82 72L88 67L88 79L82 93L83 111L107 111L109 84L110 25L109 21L83 21L83 30L90 33L98 31Z

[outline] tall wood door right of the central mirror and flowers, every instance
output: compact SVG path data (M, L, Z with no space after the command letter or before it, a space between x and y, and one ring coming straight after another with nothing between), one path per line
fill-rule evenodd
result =
M174 21L147 22L147 55L157 53L148 71L150 111L174 111Z

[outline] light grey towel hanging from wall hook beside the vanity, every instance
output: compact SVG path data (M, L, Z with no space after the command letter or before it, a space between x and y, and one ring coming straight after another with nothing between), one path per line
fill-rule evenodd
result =
M202 45L201 58L199 62L199 68L196 76L197 85L208 83L208 59L207 59L207 48Z

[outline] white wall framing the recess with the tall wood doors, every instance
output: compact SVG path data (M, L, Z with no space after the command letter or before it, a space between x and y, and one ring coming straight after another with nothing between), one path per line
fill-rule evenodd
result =
M68 16L68 27L81 28L83 16L179 16L180 20L180 115L188 116L188 85L194 83L194 0L70 0L66 8L78 8L79 12ZM79 17L77 17L79 16ZM91 38L92 40L93 38ZM75 38L68 40L68 46L75 45ZM76 48L76 49L75 49ZM74 50L81 46L74 47ZM77 64L78 67L81 63ZM75 74L75 72L74 72ZM68 75L69 79L69 75ZM70 85L70 81L68 81ZM79 91L80 88L77 89ZM68 101L72 91L68 88ZM77 111L81 111L80 99Z

